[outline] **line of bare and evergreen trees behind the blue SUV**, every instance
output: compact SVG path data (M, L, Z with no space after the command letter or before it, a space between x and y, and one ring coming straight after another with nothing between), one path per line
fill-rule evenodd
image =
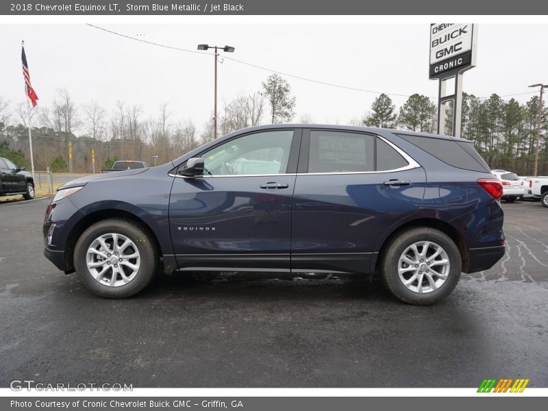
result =
M530 175L536 149L538 103L538 96L520 104L515 99L505 101L496 94L481 99L464 93L461 137L473 140L477 151L493 169ZM270 75L259 90L221 103L219 134L253 125L294 121L295 105L286 79ZM411 95L396 108L383 93L361 119L348 123L435 132L436 111L432 99L425 95ZM29 118L35 168L50 167L54 172L68 170L69 142L73 147L73 171L90 173L92 150L96 153L98 172L102 167L112 166L117 159L164 164L216 137L212 116L199 131L192 119L175 119L168 103L160 105L154 115L146 116L141 105L125 101L116 101L110 112L97 101L77 104L64 89L58 90L49 107L36 109L29 109L26 102L13 105L0 96L0 156L25 166L29 164ZM303 114L297 122L312 123L312 115ZM548 111L543 107L539 175L548 174L547 135Z

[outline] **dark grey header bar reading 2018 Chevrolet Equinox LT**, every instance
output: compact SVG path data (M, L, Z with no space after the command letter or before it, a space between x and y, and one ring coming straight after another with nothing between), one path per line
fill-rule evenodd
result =
M540 15L548 1L3 0L0 15Z

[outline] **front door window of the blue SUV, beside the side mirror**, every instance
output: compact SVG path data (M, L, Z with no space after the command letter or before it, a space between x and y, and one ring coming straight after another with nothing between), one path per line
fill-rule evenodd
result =
M274 130L234 138L200 155L204 175L284 174L293 130Z

